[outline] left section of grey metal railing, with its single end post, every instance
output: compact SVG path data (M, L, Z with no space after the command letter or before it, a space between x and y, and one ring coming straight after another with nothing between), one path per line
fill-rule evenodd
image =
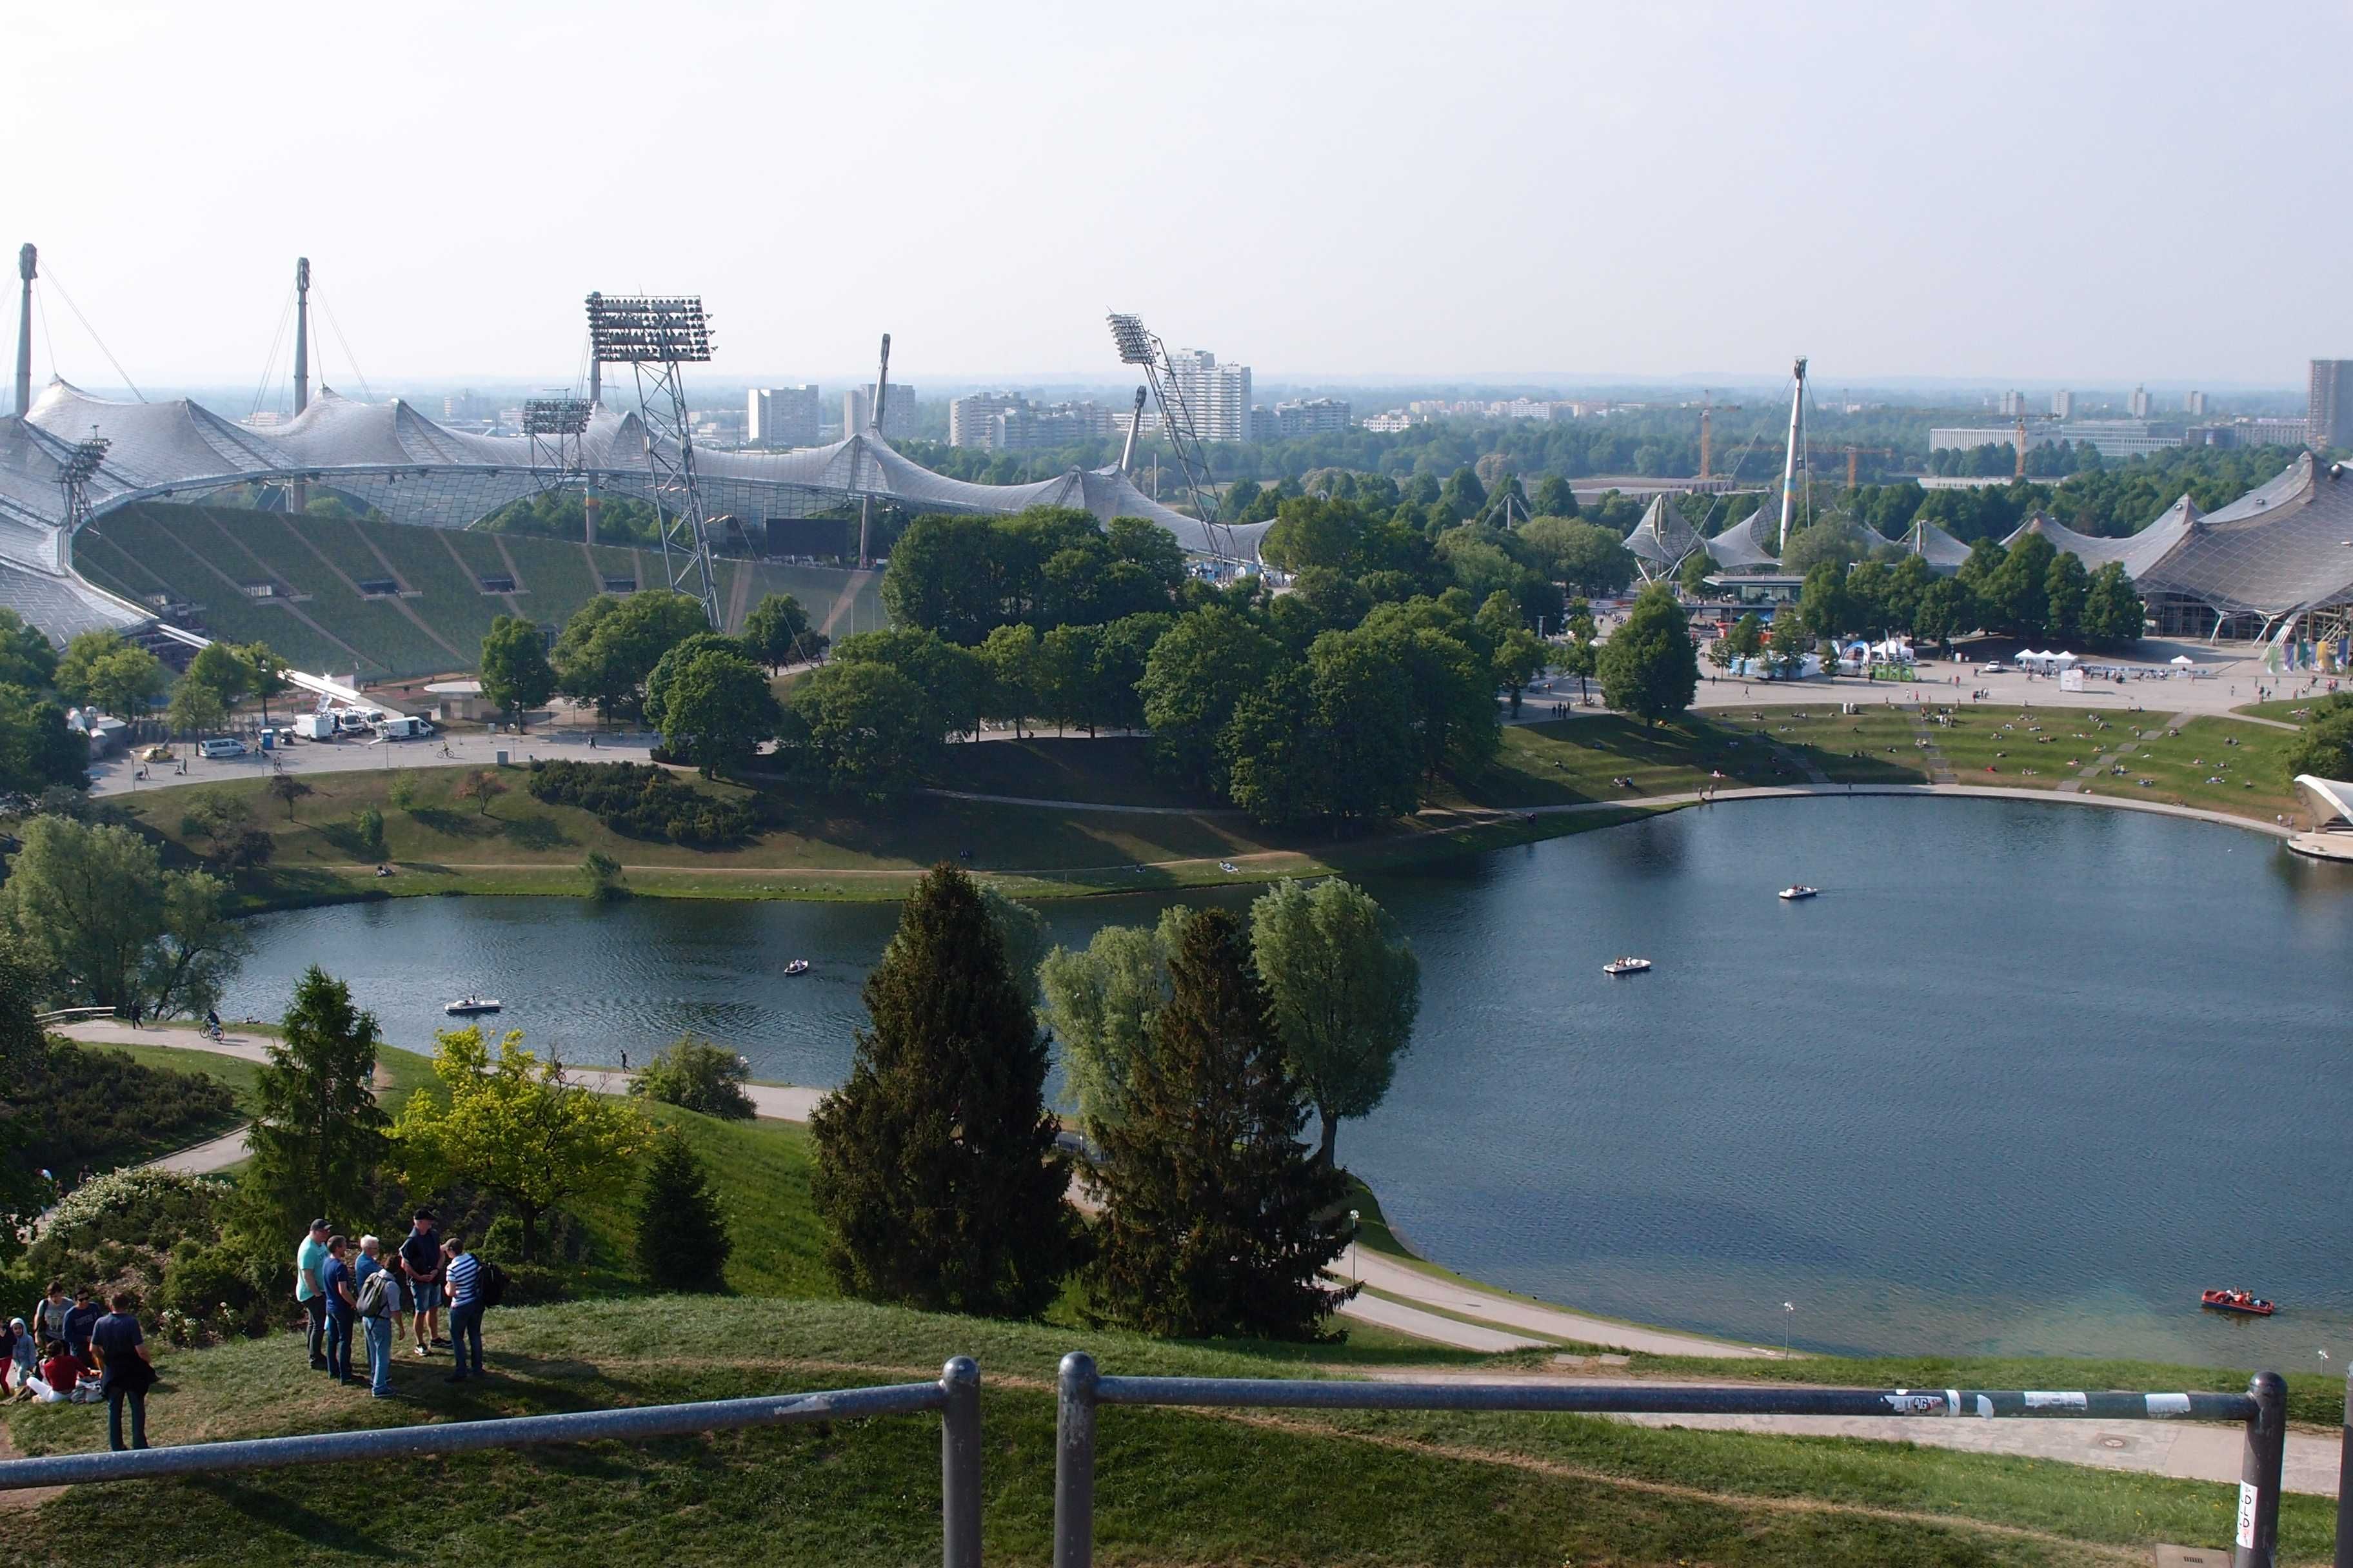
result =
M981 1568L981 1368L972 1356L948 1361L939 1382L7 1460L0 1462L0 1490L339 1465L346 1460L412 1460L433 1453L527 1448L534 1443L631 1443L696 1432L795 1427L868 1415L918 1415L922 1410L939 1410L941 1568Z

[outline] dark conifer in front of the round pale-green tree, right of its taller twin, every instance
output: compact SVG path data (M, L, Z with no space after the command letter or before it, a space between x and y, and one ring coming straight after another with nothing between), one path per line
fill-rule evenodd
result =
M1096 1307L1146 1333L1311 1340L1355 1288L1320 1272L1348 1244L1348 1178L1299 1143L1308 1110L1249 938L1202 910L1169 954L1172 992L1127 1077L1104 1161Z

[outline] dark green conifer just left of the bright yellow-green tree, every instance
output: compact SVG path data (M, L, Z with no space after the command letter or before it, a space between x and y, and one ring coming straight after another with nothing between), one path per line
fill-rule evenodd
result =
M285 1032L254 1079L259 1114L245 1190L264 1234L292 1237L311 1215L365 1213L391 1119L376 1105L376 1016L318 964L294 983Z

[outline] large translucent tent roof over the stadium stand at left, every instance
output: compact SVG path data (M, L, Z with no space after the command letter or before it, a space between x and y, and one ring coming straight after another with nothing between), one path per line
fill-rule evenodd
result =
M353 402L332 388L282 425L247 430L188 400L111 402L52 381L24 418L0 421L0 604L52 637L136 625L146 611L73 574L59 475L73 447L108 442L87 484L89 517L132 501L195 501L235 484L308 482L379 508L393 522L466 527L548 489L520 435L449 430L405 402ZM652 498L645 425L598 407L579 461L609 496ZM1118 468L1071 470L1033 484L972 484L901 456L875 430L802 451L696 451L713 515L807 517L873 496L915 512L1009 515L1033 505L1080 508L1111 522L1144 517L1193 555L1257 559L1273 524L1209 529L1148 498Z

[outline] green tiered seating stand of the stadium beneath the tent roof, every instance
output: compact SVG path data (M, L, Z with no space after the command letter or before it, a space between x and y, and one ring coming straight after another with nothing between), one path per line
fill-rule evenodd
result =
M661 583L661 557L647 550L155 501L85 529L73 562L129 599L200 604L214 637L268 642L301 670L367 679L471 670L499 616L560 625L605 578ZM798 597L819 625L838 611L847 630L856 590L856 618L880 618L873 576L729 559L718 569L729 625L765 592ZM515 592L485 592L482 578L513 578ZM360 592L384 581L398 595ZM254 583L275 583L278 597L252 597Z

